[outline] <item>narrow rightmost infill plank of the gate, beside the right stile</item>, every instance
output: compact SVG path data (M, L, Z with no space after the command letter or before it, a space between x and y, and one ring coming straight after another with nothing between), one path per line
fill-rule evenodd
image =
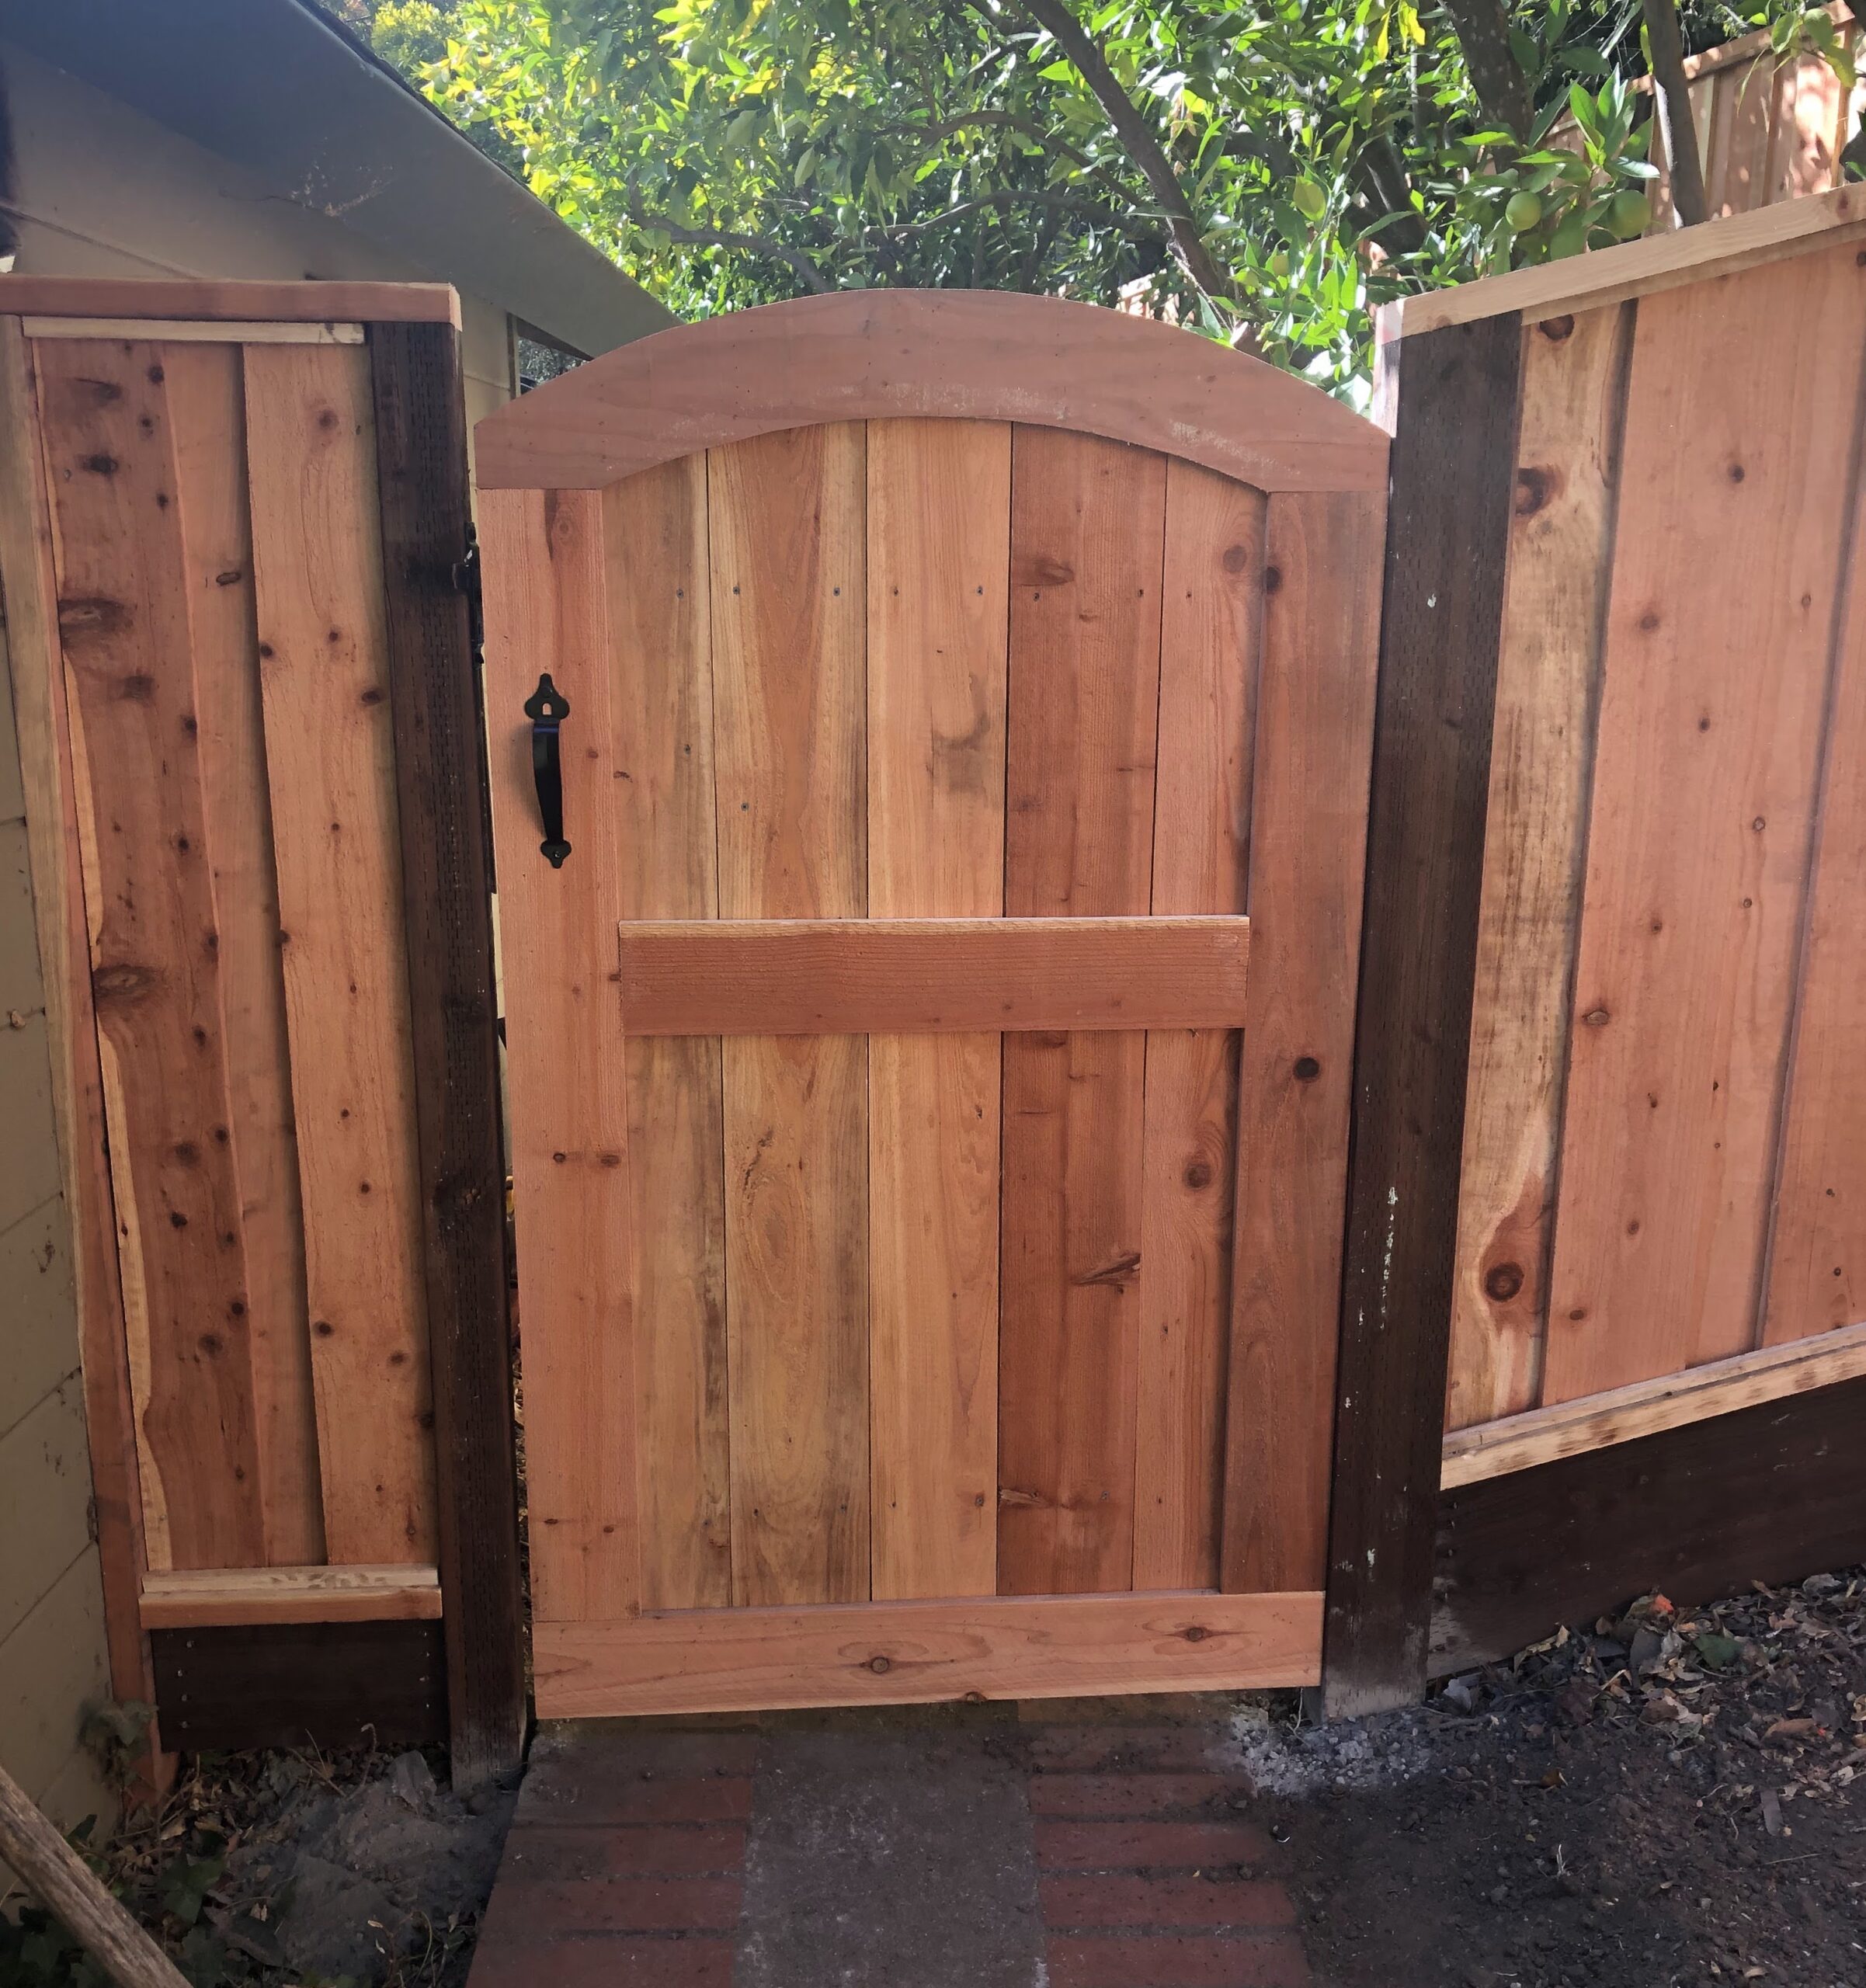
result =
M1166 463L1153 909L1242 912L1262 646L1264 495ZM1147 1040L1135 1586L1218 1584L1238 1038Z

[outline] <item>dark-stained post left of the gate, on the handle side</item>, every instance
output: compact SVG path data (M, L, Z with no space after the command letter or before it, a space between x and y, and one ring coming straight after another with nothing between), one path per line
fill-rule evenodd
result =
M505 1159L459 332L372 324L453 1785L525 1745Z

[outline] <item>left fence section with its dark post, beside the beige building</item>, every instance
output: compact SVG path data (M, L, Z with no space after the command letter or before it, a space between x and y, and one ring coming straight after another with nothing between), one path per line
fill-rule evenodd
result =
M509 1469L459 1523L463 1443L511 1439L459 1338L491 1308L503 1348L499 1231L455 1219L501 1199L481 813L427 763L477 763L455 342L437 288L0 278L113 1682L193 1745L225 1728L187 1672L233 1628L306 1684L419 1674L443 1730L433 1624L515 1565ZM469 1777L517 1745L499 1622L505 1712L459 1678Z

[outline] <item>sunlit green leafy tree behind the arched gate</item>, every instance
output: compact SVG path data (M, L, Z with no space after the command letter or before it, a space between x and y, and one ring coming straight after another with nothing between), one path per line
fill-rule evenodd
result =
M1800 0L1683 14L1757 24L1846 62ZM391 0L376 38L682 316L1049 290L1355 394L1383 298L1649 215L1641 0Z

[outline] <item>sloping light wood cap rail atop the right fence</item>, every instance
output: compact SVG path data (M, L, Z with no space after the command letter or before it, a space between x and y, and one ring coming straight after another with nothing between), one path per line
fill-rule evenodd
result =
M1471 324L1477 318L1498 318L1512 310L1522 312L1524 322L1576 310L1604 310L1608 304L1624 304L1630 296L1657 296L1685 284L1709 282L1713 276L1735 276L1769 262L1790 260L1812 248L1838 248L1860 235L1866 235L1866 191L1836 187L1832 193L1779 201L1755 213L1731 215L1727 221L1647 235L1562 262L1510 270L1508 276L1486 276L1482 282L1407 296L1379 308L1377 338L1381 344L1391 344L1395 338L1437 332L1447 324Z

